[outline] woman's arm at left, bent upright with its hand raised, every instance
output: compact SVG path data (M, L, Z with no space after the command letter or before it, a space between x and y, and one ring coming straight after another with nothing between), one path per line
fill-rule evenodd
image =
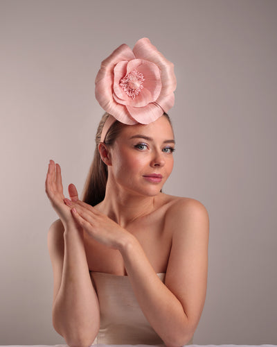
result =
M98 298L89 276L83 231L64 205L60 167L54 170L53 162L48 169L46 193L62 219L48 231L54 276L53 326L69 346L90 346L99 330Z

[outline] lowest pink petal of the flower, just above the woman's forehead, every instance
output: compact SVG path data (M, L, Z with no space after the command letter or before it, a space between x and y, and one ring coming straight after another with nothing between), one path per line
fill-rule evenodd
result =
M141 124L152 123L152 121L156 121L163 115L163 109L157 103L148 103L144 108L134 108L132 106L126 106L126 108L130 115Z

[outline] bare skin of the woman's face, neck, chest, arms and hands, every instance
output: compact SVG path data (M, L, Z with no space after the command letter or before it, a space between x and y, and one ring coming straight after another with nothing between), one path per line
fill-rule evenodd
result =
M166 117L125 126L114 146L100 144L108 166L105 199L91 207L51 160L46 194L60 219L48 231L53 264L53 325L69 346L89 346L100 324L89 270L127 275L141 310L166 346L193 336L204 307L208 212L192 198L160 192L173 167ZM159 174L160 180L149 176ZM165 284L157 273L166 272Z

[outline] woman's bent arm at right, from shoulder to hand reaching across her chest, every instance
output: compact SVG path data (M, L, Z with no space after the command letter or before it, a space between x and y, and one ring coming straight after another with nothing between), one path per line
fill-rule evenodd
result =
M206 297L209 221L204 205L180 200L168 210L172 248L163 284L136 237L83 202L65 202L75 207L75 220L91 237L120 251L141 310L166 346L186 344Z

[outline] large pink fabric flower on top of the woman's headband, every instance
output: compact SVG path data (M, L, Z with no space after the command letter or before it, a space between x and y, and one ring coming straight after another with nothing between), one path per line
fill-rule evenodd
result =
M102 61L96 76L100 106L124 124L149 124L174 105L174 65L147 37L130 49L121 44Z

